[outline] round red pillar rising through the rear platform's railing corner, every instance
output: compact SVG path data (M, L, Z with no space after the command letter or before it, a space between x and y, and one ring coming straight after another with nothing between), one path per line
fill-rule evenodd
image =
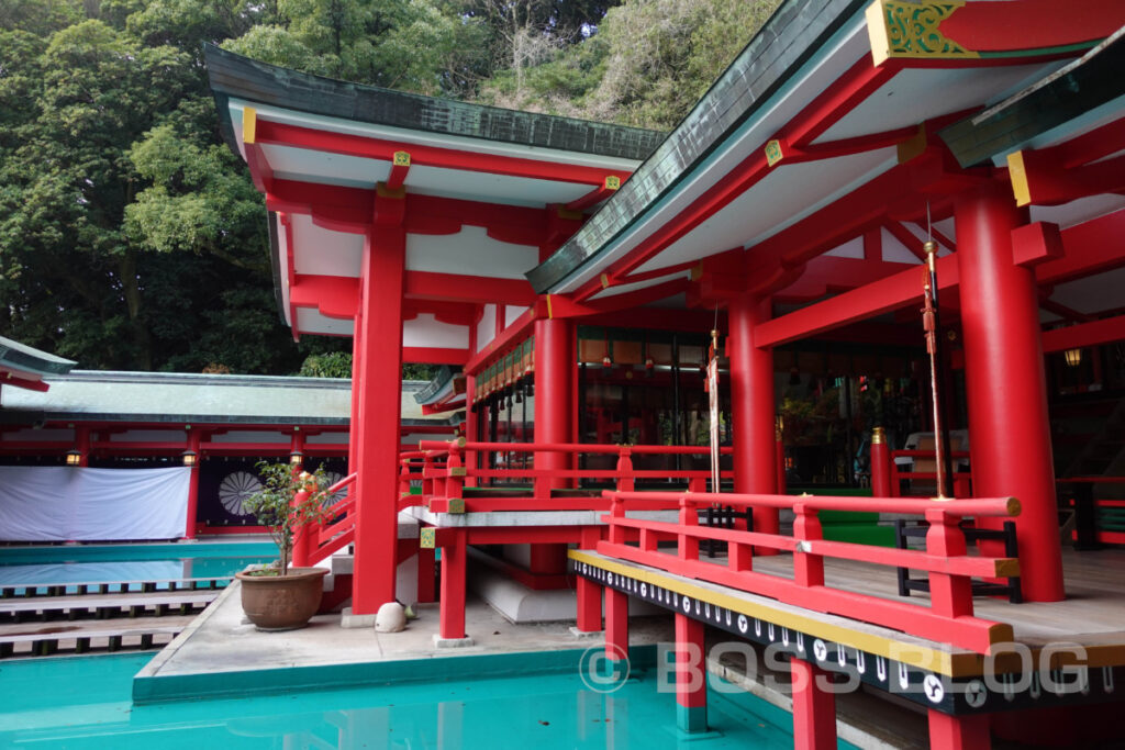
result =
M573 424L575 343L569 320L536 320L536 442L570 443ZM568 453L536 453L537 469L570 468ZM546 497L550 488L568 487L567 479L536 479L536 497ZM566 572L565 544L532 544L531 572Z

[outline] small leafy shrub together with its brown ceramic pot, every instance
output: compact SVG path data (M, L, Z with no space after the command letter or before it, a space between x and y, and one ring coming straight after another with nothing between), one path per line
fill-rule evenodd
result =
M321 606L324 568L290 568L294 545L316 525L330 519L325 507L328 478L323 469L296 473L288 463L258 463L262 488L243 500L243 507L270 530L280 557L272 566L246 570L242 608L259 630L304 627Z

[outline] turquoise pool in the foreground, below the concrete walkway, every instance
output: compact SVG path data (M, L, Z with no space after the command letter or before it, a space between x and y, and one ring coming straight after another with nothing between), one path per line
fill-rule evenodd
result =
M0 662L0 747L793 747L790 715L745 693L712 692L713 731L682 734L675 729L675 696L657 692L655 670L642 670L606 695L588 690L577 674L558 672L134 706L132 678L150 658Z

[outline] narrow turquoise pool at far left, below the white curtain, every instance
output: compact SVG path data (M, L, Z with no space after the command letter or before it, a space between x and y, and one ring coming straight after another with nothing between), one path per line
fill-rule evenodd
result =
M9 546L0 548L0 586L220 578L276 558L269 541Z

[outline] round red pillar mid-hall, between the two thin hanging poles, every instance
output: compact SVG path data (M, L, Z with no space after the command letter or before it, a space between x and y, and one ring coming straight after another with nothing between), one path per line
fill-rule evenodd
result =
M730 301L730 410L734 423L735 491L777 491L773 350L754 345L754 329L770 319L770 300L742 295ZM754 531L776 534L777 510L754 509ZM775 554L773 550L756 550Z

